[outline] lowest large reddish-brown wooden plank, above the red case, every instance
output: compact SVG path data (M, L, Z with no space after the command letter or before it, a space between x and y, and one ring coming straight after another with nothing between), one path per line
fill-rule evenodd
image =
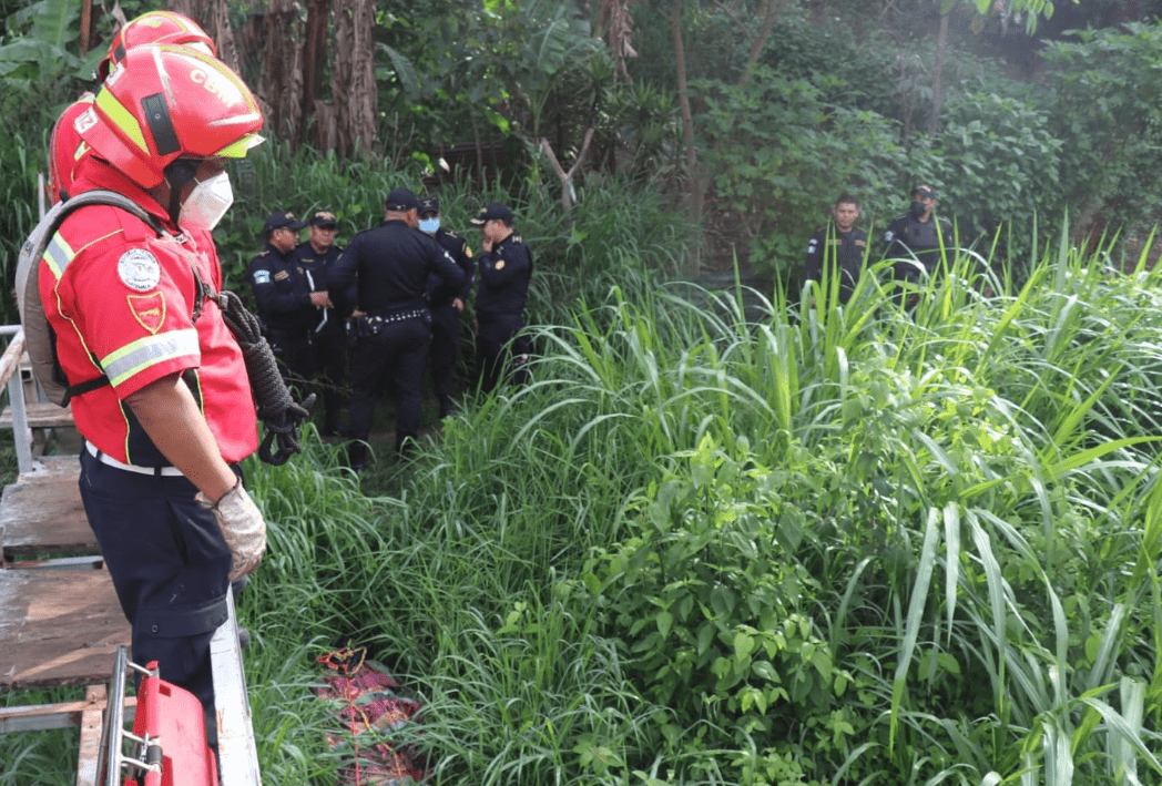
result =
M0 570L0 690L103 683L129 643L105 570Z

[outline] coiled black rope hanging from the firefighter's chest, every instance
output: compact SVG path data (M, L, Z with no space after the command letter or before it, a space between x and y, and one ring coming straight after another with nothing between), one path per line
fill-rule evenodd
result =
M258 447L258 457L268 464L285 464L295 453L302 450L299 441L299 425L310 416L315 394L302 401L290 398L286 382L274 363L274 353L266 342L258 319L231 291L214 295L227 327L242 347L242 358L250 376L250 388L254 392L258 417L266 425L266 437ZM271 455L271 444L278 440L278 453Z

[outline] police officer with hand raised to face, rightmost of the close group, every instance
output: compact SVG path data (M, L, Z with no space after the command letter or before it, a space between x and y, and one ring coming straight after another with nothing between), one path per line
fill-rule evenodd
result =
M505 347L511 341L512 378L524 381L529 362L529 339L517 336L524 327L524 304L532 279L532 252L512 230L512 211L492 203L472 219L483 236L483 253L478 260L476 289L476 378L483 392L501 380ZM514 340L515 338L515 340Z

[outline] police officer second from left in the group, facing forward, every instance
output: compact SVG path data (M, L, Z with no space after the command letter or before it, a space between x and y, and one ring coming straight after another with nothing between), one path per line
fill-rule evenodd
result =
M343 409L343 383L347 375L347 336L343 318L335 310L327 295L327 281L331 267L343 253L335 245L337 224L335 214L318 210L307 223L310 237L290 252L292 260L302 269L309 291L327 296L323 305L315 311L315 324L310 329L310 361L323 381L323 437L335 437L339 432L339 413Z

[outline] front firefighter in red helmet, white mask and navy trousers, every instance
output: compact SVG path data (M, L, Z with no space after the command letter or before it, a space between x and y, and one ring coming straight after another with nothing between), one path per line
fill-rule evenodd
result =
M213 718L209 641L229 582L253 570L265 522L235 464L257 447L243 354L209 297L210 236L232 201L225 165L261 142L242 80L186 46L134 48L76 122L92 147L74 193L129 197L72 212L38 284L73 391L85 512L136 662L193 692Z

